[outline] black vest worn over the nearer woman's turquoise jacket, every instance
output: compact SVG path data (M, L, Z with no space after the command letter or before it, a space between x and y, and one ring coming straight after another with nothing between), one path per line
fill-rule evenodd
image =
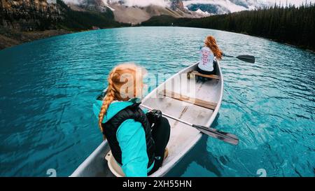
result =
M144 111L139 108L141 103L132 104L132 106L127 106L123 110L119 111L111 120L108 122L102 123L103 133L106 136L109 146L111 147L111 153L115 158L116 162L120 165L122 164L122 153L117 140L117 130L119 126L128 119L133 119L137 122L141 122L142 127L144 127L144 132L146 134L146 153L148 154L148 167L151 167L151 164L154 162L155 157L155 142L151 133L151 125L146 118Z

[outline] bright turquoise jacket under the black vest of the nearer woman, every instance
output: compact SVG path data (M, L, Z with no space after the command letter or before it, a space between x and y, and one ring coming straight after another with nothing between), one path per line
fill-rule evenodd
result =
M114 115L127 106L134 104L135 101L135 99L130 101L113 101L109 105L103 123L109 121ZM97 118L101 106L102 101L99 100L93 104L93 112ZM144 112L146 113L146 111ZM122 151L122 169L125 176L147 176L148 172L153 168L154 162L151 167L147 169L148 154L146 153L146 134L141 123L132 119L125 120L120 127L118 127L116 136Z

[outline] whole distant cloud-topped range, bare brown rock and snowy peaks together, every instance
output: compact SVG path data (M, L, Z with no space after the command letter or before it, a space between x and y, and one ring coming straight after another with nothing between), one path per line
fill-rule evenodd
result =
M268 3L259 0L64 0L73 10L113 12L114 20L139 24L153 16L206 17L253 10ZM267 2L267 1L266 1Z

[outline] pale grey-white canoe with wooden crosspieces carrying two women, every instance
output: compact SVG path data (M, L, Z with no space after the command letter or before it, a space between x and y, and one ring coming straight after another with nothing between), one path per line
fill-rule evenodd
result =
M218 63L214 79L199 80L197 83L192 75L188 79L188 73L196 68L197 63L179 71L150 92L142 100L142 104L175 118L210 127L218 114L223 97L221 67ZM202 137L197 129L170 118L168 120L171 125L171 136L167 144L169 155L162 167L151 176L165 176ZM109 156L109 162L104 159L109 151L109 144L103 141L71 176L120 176L117 173L119 169L115 167L116 162L109 160Z

